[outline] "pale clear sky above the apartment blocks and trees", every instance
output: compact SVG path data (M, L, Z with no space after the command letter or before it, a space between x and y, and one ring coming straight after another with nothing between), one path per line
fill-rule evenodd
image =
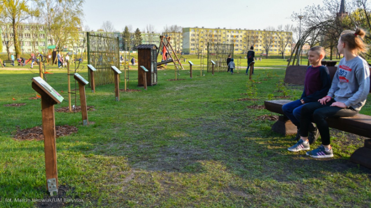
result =
M125 25L133 30L151 24L156 32L167 25L205 28L261 29L280 24L293 24L293 12L306 6L323 5L323 0L86 0L84 26L98 30L104 21L111 21L115 29Z

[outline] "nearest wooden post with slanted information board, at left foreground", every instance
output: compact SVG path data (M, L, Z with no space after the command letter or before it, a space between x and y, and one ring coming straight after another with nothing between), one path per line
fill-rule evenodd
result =
M42 126L44 134L45 172L47 190L58 194L57 151L55 144L54 105L63 97L41 77L32 78L32 88L41 95Z

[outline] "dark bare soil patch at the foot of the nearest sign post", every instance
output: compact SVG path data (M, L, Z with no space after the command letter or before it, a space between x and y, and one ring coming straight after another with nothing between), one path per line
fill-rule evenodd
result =
M75 188L70 188L67 185L59 185L58 195L50 196L46 195L45 198L39 199L37 207L42 208L59 208L59 207L80 207L82 206L84 199L72 198L66 195L67 192L74 192ZM54 192L55 194L55 192Z

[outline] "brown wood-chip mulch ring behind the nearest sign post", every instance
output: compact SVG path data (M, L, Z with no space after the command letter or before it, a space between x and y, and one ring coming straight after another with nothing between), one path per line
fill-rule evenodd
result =
M77 132L78 129L74 126L70 125L63 125L63 126L56 126L55 127L55 137L61 137L70 135L72 133ZM18 130L16 135L14 136L15 140L44 140L43 128L42 127L33 127L27 128L24 130Z

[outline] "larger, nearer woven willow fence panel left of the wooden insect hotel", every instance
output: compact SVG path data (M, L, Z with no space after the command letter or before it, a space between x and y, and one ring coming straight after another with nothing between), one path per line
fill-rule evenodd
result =
M87 33L88 64L96 68L94 72L95 86L115 82L111 66L120 69L120 52L118 37L104 37ZM90 73L89 86L90 86Z

